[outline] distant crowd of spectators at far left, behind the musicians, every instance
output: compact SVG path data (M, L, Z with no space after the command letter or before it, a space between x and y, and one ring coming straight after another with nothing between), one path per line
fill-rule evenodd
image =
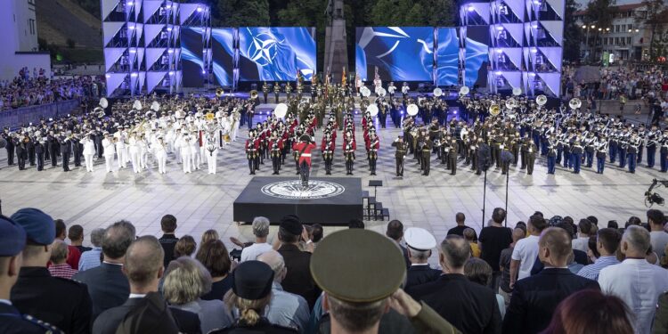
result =
M0 110L72 99L98 99L106 90L100 77L45 77L44 69L21 69L13 80L0 80Z

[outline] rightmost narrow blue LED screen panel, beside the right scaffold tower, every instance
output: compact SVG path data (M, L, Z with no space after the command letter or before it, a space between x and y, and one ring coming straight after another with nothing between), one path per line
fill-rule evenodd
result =
M470 26L466 28L465 86L487 86L489 40L488 27Z

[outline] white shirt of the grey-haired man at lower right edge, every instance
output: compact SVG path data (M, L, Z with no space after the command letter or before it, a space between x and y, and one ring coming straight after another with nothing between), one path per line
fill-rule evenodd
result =
M622 298L635 314L635 332L649 334L659 295L668 290L668 271L644 258L627 258L600 271L603 293Z

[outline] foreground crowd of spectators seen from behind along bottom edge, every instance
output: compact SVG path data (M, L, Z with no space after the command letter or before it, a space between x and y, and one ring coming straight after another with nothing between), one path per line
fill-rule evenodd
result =
M285 216L269 242L257 217L228 251L216 230L177 236L167 215L159 239L121 220L88 248L81 225L23 208L0 216L0 332L668 332L661 211L623 228L535 212L511 229L502 208L479 233L455 220L438 242L397 220L323 238Z

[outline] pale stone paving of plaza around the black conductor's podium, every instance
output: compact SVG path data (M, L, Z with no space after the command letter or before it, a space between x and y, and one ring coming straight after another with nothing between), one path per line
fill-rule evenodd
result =
M256 118L256 122L257 122ZM359 123L359 122L358 122ZM503 207L506 177L500 170L490 169L487 177L486 212L483 216L483 176L475 175L460 161L457 175L452 176L444 166L438 166L433 155L432 171L428 176L420 175L420 167L412 158L406 159L403 178L395 177L394 148L390 143L399 133L398 129L380 129L380 153L377 176L370 176L363 157L362 126L356 126L358 154L355 177L363 178L363 189L370 179L382 180L378 189L378 200L390 209L391 219L399 219L405 226L420 226L443 240L448 229L455 225L454 216L463 212L467 224L479 231L483 221L491 216L494 207ZM322 133L316 134L320 143ZM243 153L246 131L240 130L238 142L224 147L218 154L218 173L208 175L206 165L202 169L185 175L174 157L167 159L167 174L159 175L157 167L135 175L132 168L105 173L102 159L95 162L95 171L86 173L85 167L74 168L66 173L59 166L52 168L46 163L45 170L36 167L19 171L16 165L7 167L6 151L0 150L0 200L4 215L24 207L45 210L65 223L81 224L88 234L95 227L104 227L120 219L126 219L137 227L138 234L159 236L160 217L172 214L178 218L177 235L191 234L196 240L202 232L216 229L228 247L229 237L251 240L248 225L232 222L232 202L244 189L250 177L248 163ZM346 177L346 168L341 158L342 135L338 135L337 152L332 177ZM312 177L328 177L320 154L314 154ZM292 159L281 176L294 176ZM657 168L648 169L645 161L631 175L618 167L606 167L604 175L583 168L574 175L558 167L556 175L547 175L545 159L536 160L534 175L526 175L519 167L511 167L509 176L509 225L526 221L535 210L546 217L553 215L573 216L575 222L585 216L597 216L599 225L615 219L623 225L630 216L639 216L643 221L646 207L644 192L653 178L667 178ZM83 164L83 159L82 159ZM658 162L656 163L658 165ZM70 160L70 167L73 166ZM596 163L594 162L594 168ZM271 175L271 162L265 161L257 175ZM663 188L658 190L662 196ZM661 207L659 207L661 208ZM385 222L365 222L373 230L385 230ZM335 228L326 228L325 233ZM275 230L275 227L273 227Z

